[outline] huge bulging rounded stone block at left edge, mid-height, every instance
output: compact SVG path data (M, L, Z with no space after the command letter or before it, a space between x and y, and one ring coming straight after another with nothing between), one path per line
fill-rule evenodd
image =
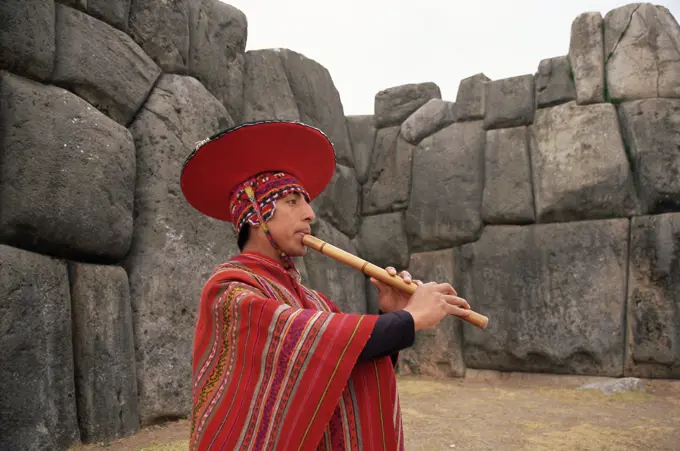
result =
M0 78L0 240L64 258L115 261L130 247L135 147L76 95Z

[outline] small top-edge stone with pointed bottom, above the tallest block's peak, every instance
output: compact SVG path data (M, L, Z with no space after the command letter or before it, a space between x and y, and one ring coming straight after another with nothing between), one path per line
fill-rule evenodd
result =
M134 0L128 33L165 73L187 74L189 0Z

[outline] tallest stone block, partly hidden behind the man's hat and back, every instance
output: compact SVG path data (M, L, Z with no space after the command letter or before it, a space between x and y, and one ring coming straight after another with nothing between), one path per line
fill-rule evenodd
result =
M164 75L130 128L138 177L125 268L142 424L190 412L196 303L214 268L238 252L231 224L194 210L179 186L196 143L231 125L224 106L196 79Z

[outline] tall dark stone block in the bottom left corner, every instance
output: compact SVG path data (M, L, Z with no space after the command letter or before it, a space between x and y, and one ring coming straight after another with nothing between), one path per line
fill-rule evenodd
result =
M0 245L0 449L78 443L63 262Z

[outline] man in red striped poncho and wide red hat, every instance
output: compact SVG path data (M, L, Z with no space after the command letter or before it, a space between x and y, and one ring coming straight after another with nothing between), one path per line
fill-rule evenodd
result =
M332 144L297 122L242 124L200 143L181 176L187 201L233 224L240 254L200 298L192 450L401 450L392 356L417 330L469 305L448 284L377 280L382 315L342 313L300 282L310 202L335 171ZM394 268L388 271L396 275ZM359 293L357 293L359 295Z

